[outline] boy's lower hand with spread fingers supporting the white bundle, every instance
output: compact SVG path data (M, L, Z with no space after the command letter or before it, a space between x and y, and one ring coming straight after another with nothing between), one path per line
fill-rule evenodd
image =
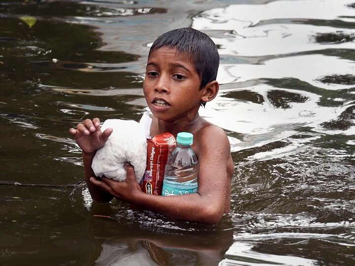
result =
M114 181L107 177L102 177L102 181L97 180L95 177L90 177L90 181L113 197L131 203L132 199L134 199L138 193L142 192L142 190L137 182L134 167L129 163L126 163L124 167L127 172L127 177L126 180L122 182Z

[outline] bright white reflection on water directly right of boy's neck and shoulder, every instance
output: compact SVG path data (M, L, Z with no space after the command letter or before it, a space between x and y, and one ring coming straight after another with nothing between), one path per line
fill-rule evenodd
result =
M244 90L256 92L265 99L262 103L242 102L236 99L221 97L223 94L233 90L223 90L217 98L208 102L206 108L200 108L200 115L219 127L238 133L262 134L280 131L280 126L289 125L291 128L309 126L315 131L322 132L320 123L337 118L338 111L334 107L320 106L320 96L306 91L285 90L298 93L308 97L306 102L291 102L292 108L275 108L267 101L267 92L275 88L260 84L252 87L245 87ZM235 89L237 91L238 89ZM342 107L339 107L341 109ZM284 132L289 127L283 127ZM329 132L328 132L329 133ZM351 128L342 133L353 134L355 129Z

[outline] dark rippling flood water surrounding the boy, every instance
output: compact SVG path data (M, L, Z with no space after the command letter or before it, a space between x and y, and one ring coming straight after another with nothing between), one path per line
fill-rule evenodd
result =
M149 46L180 27L221 59L213 226L93 203L68 133L139 120ZM355 0L2 0L0 85L0 265L355 264Z

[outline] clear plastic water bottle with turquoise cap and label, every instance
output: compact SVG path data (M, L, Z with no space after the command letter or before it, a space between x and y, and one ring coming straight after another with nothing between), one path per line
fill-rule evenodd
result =
M193 135L180 132L177 147L165 166L162 196L187 195L197 192L198 161L191 148Z

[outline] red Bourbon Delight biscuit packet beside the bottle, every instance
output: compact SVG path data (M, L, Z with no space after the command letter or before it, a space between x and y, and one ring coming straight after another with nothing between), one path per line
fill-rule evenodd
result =
M147 139L147 166L140 184L143 192L161 195L165 165L176 146L175 137L171 133L163 133Z

